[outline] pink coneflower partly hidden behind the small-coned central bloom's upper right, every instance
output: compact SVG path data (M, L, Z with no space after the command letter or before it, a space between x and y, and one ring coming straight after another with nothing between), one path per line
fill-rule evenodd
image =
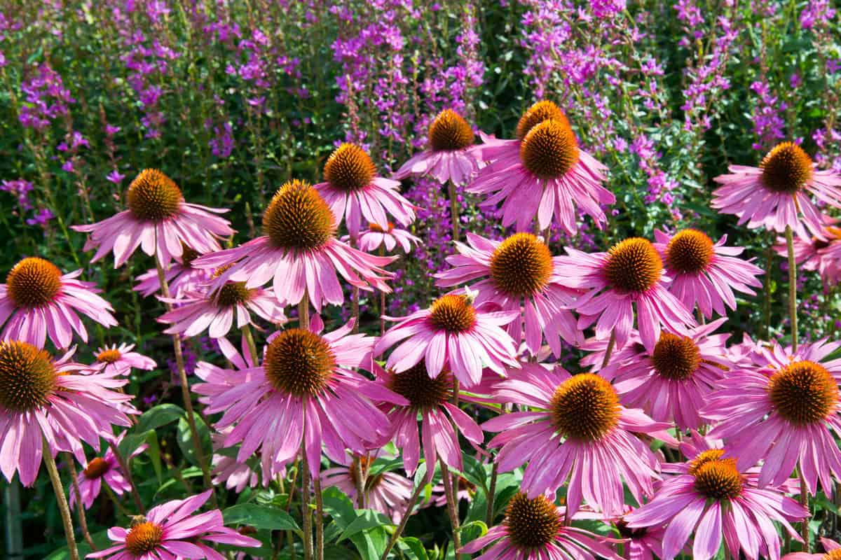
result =
M452 269L438 273L436 285L449 287L480 279L470 286L479 292L475 304L492 301L505 311L516 311L516 321L508 323L506 330L518 345L525 333L532 355L540 350L544 337L556 356L561 354L562 338L568 343L582 342L576 319L567 308L579 292L558 283L561 258L552 256L542 238L515 233L500 242L468 233L467 239L469 245L456 242L459 254L447 257Z

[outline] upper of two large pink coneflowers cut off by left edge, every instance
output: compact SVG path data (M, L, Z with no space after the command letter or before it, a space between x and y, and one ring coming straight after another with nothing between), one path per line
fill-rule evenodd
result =
M79 314L104 327L114 327L114 308L97 294L93 282L77 280L82 270L66 275L49 260L27 257L15 264L0 284L0 325L3 339L25 340L43 348L47 335L56 348L68 348L75 331L87 342Z

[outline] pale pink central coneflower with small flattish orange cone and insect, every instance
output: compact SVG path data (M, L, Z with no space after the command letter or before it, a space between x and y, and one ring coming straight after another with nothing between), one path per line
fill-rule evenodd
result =
M447 294L428 309L407 317L386 317L398 323L378 340L374 355L397 344L386 368L400 373L425 360L431 377L448 367L456 379L470 387L481 381L483 366L504 374L505 366L519 364L514 341L502 330L519 316L519 309L477 309L470 296Z

